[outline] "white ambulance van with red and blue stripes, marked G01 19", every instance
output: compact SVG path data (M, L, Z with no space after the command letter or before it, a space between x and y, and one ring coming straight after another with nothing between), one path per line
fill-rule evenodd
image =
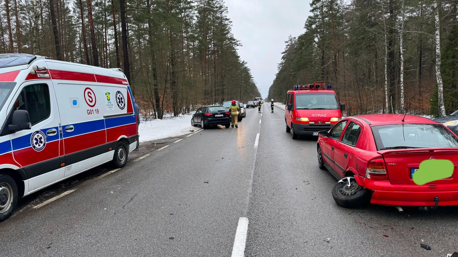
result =
M138 128L120 69L0 54L0 221L18 198L106 162L125 166Z

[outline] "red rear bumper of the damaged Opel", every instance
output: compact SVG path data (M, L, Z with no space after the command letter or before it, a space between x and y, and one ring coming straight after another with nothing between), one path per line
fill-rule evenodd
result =
M372 190L371 203L400 206L434 206L434 198L439 197L439 205L458 205L458 183L431 185L391 184L387 180L371 180L357 177L361 186Z

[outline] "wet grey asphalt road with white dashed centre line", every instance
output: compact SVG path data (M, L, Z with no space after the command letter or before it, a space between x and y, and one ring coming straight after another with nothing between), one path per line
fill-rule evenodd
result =
M244 249L247 257L445 257L458 251L457 207L404 213L338 207L331 196L336 180L317 167L316 138L291 139L284 112L265 107L262 116L247 109L238 129L196 128L143 143L120 170L101 166L22 199L0 223L0 256L223 257Z

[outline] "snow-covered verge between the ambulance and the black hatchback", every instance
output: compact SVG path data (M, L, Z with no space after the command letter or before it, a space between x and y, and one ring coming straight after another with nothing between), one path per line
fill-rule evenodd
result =
M142 121L138 128L140 143L161 138L180 136L190 133L190 130L198 128L191 126L192 114L180 115L179 117L164 118L162 120Z

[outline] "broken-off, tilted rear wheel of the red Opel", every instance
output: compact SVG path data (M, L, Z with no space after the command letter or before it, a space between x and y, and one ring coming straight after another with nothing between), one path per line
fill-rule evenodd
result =
M333 198L344 208L359 208L369 203L371 191L358 185L354 177L344 177L333 187Z

